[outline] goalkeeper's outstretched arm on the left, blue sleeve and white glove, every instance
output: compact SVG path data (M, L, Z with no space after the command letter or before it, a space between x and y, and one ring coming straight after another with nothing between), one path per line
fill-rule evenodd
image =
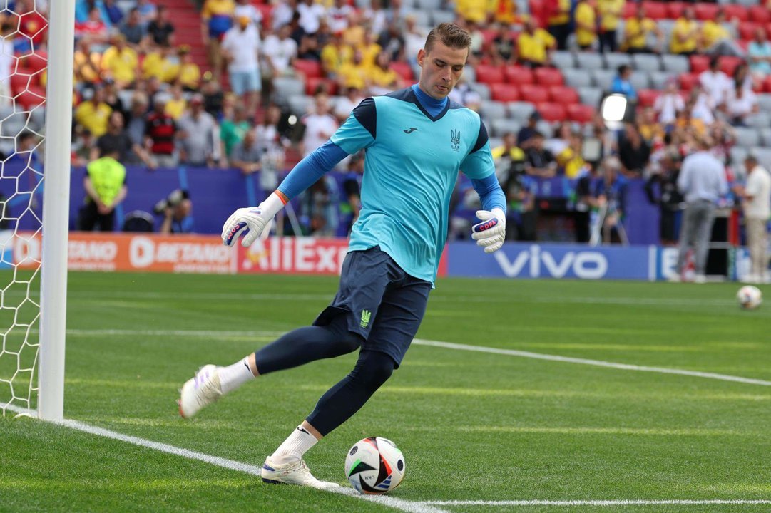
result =
M375 101L371 98L359 103L351 116L325 142L309 153L284 178L259 206L236 210L222 227L222 243L233 246L243 235L241 244L251 246L261 236L265 226L292 198L308 189L348 155L358 152L375 141Z

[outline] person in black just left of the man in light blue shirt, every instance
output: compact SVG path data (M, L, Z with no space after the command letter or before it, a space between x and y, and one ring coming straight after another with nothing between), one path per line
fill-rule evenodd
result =
M665 149L660 166L645 182L648 200L659 206L659 238L664 246L677 243L677 216L683 201L677 189L680 173L680 153L675 148Z

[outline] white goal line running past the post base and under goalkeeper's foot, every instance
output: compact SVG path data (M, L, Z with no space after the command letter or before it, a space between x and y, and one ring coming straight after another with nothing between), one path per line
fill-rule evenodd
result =
M37 418L35 411L28 408L22 408L13 404L0 403L0 410L7 408L10 411L14 411L20 415L29 415L30 417ZM82 431L83 433L95 434L99 437L110 438L112 440L123 441L128 444L138 445L143 448L153 449L155 451L165 452L167 454L173 454L175 456L181 456L190 460L203 461L204 463L213 464L217 467L227 468L229 470L244 472L261 477L261 468L247 463L241 463L241 461L228 460L225 458L219 458L210 454L204 454L203 452L190 451L189 449L183 449L169 444L161 444L160 442L146 440L145 438L133 437L129 434L119 433L117 431L110 431L109 429L97 428L90 424L85 424L79 421L71 421L65 419L63 421L53 421L52 424L64 426L65 428L74 429L76 431ZM399 511L407 511L408 513L449 513L449 511L441 508L436 508L434 505L424 504L422 502L406 501L404 499L389 497L388 495L362 495L352 488L340 487L329 488L322 491L328 491L339 495L347 495L348 497L358 498L362 501L374 502L382 506L398 509Z

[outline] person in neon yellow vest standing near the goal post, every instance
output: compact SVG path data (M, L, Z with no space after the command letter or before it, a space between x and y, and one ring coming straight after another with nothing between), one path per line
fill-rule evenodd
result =
M108 153L86 167L83 188L86 204L78 212L78 230L111 232L115 226L115 207L126 198L126 167Z

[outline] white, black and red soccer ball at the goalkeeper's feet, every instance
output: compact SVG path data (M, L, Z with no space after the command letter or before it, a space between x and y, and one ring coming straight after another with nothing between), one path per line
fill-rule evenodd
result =
M404 454L387 438L364 438L345 457L345 477L359 493L385 494L404 478Z

